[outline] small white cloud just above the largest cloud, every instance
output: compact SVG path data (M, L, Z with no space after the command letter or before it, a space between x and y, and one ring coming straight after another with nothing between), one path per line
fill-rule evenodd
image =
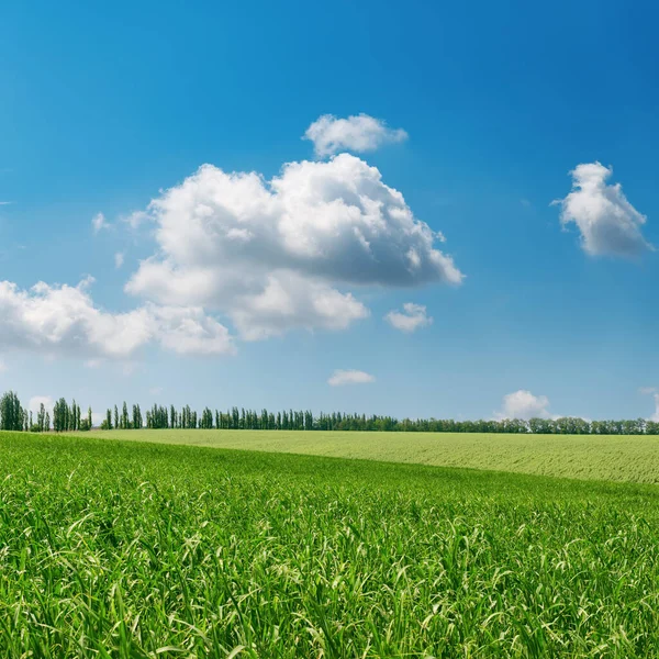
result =
M304 138L313 142L316 155L323 158L343 150L372 152L383 144L403 142L407 133L402 129L390 129L383 121L368 114L347 119L323 114L306 129Z

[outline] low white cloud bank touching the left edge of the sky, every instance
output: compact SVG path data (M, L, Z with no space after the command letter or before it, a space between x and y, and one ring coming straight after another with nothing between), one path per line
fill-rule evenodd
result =
M0 281L0 349L70 355L94 366L101 357L125 358L148 343L176 353L234 351L226 327L200 308L157 306L112 314L94 306L92 278L76 287L40 282L30 290Z

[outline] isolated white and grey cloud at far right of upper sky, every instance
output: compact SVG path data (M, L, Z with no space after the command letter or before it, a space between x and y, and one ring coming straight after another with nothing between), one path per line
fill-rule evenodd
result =
M627 201L619 183L606 185L613 169L589 163L570 174L572 191L554 203L561 206L561 224L573 222L581 232L587 254L630 257L652 249L640 231L646 216Z

